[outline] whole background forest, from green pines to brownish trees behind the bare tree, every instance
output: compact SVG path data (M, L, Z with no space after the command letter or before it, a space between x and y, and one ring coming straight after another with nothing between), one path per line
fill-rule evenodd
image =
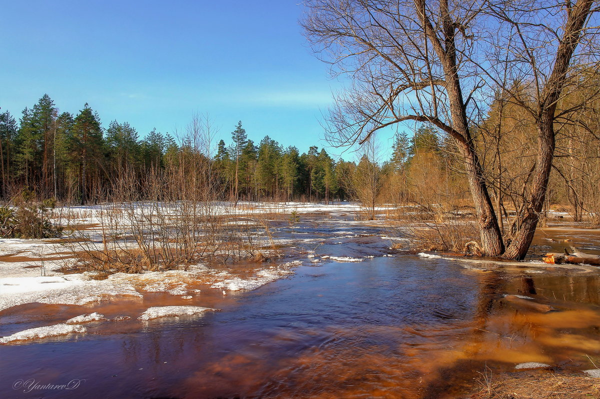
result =
M583 94L571 95L573 101L578 95ZM599 221L595 189L599 177L590 173L597 169L599 159L600 140L592 129L596 108L589 104L578 115L589 131L575 132L568 124L560 130L559 156L545 205L546 210L551 204L564 205L575 220L592 224ZM431 210L434 214L470 206L464 165L455 143L433 125L397 132L387 156L379 144L370 142L350 153L352 161L344 161L317 146L307 145L301 153L268 135L258 140L260 132L247 132L241 121L232 126L230 140L206 143L204 138L199 146L193 136L200 122L209 123L199 117L191 118L186 131L169 134L155 129L138 132L129 123L116 120L105 128L89 104L77 113L58 109L44 94L18 119L8 110L0 113L0 194L4 201L23 190L40 201L107 201L125 172L141 181L151 171L176 167L186 162L182 156L196 153L210 165L220 200L356 200L371 209L371 218L376 204L384 203L444 203ZM535 126L521 107L499 98L487 118L472 130L484 154L482 163L494 204L509 217L523 206L522 187L530 176L526 173L530 158L536 153ZM214 134L210 137L212 140ZM495 141L490 141L494 137ZM143 192L140 195L144 197Z

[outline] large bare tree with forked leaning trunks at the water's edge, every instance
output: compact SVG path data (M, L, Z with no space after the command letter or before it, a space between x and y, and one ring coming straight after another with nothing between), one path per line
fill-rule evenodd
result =
M324 61L352 85L329 114L337 144L364 143L375 132L409 120L429 122L454 139L488 256L523 258L545 199L554 155L556 102L580 53L592 1L308 0L302 21ZM540 41L535 41L539 38ZM585 38L585 40L584 40ZM543 43L542 43L543 41ZM578 44L586 46L575 53ZM508 54L508 56L507 56ZM540 60L538 58L541 57ZM502 62L500 62L502 61ZM487 108L487 93L509 80L536 78L538 159L527 206L505 241L485 182L471 127ZM544 72L545 71L545 72Z

